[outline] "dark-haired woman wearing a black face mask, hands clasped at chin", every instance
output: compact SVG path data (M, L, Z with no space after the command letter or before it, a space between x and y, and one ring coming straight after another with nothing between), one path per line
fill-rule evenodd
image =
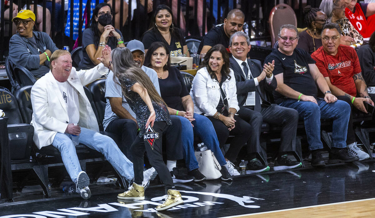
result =
M82 53L83 59L79 67L81 69L91 69L98 65L102 50L105 45L114 49L125 47L120 30L112 26L113 11L110 4L100 3L96 5L91 18L90 28L83 31Z

